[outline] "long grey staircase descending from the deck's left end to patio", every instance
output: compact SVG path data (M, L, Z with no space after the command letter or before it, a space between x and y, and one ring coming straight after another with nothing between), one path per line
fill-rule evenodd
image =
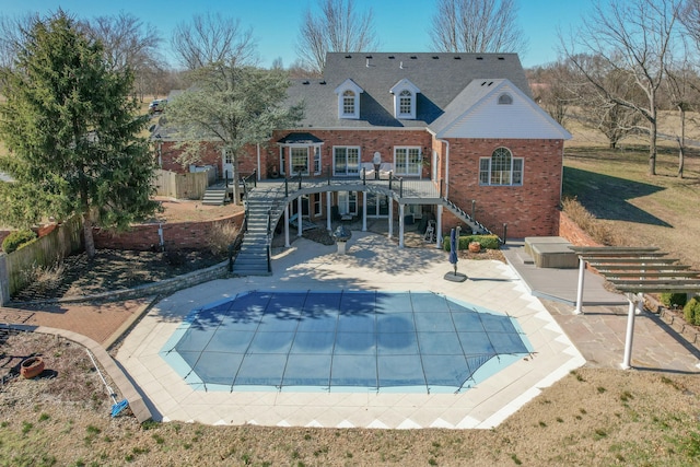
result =
M278 190L256 188L247 195L247 222L241 250L233 262L235 276L271 276L268 265L268 248L271 238L268 234L268 213L279 218Z

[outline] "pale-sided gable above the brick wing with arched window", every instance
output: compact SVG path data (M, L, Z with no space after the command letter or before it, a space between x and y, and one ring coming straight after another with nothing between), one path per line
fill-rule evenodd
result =
M508 94L511 104L499 104ZM571 133L509 80L471 81L435 119L436 138L571 139Z

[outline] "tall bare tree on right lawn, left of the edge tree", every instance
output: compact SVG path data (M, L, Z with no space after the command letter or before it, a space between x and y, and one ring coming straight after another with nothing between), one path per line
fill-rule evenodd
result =
M681 0L609 0L605 7L596 3L576 36L563 44L567 57L605 95L606 102L639 112L646 120L650 175L656 174L658 91L673 52L680 3ZM580 60L585 54L579 54L575 46L602 57L610 69L629 73L646 102L641 104L618 94L595 69Z

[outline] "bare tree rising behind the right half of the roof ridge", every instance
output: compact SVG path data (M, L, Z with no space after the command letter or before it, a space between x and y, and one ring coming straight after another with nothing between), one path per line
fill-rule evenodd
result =
M430 35L438 51L524 52L514 0L438 0Z

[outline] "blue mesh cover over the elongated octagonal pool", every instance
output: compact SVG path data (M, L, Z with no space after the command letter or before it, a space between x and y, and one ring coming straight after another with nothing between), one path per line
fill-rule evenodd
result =
M161 355L205 390L459 392L532 352L517 322L432 292L246 292Z

